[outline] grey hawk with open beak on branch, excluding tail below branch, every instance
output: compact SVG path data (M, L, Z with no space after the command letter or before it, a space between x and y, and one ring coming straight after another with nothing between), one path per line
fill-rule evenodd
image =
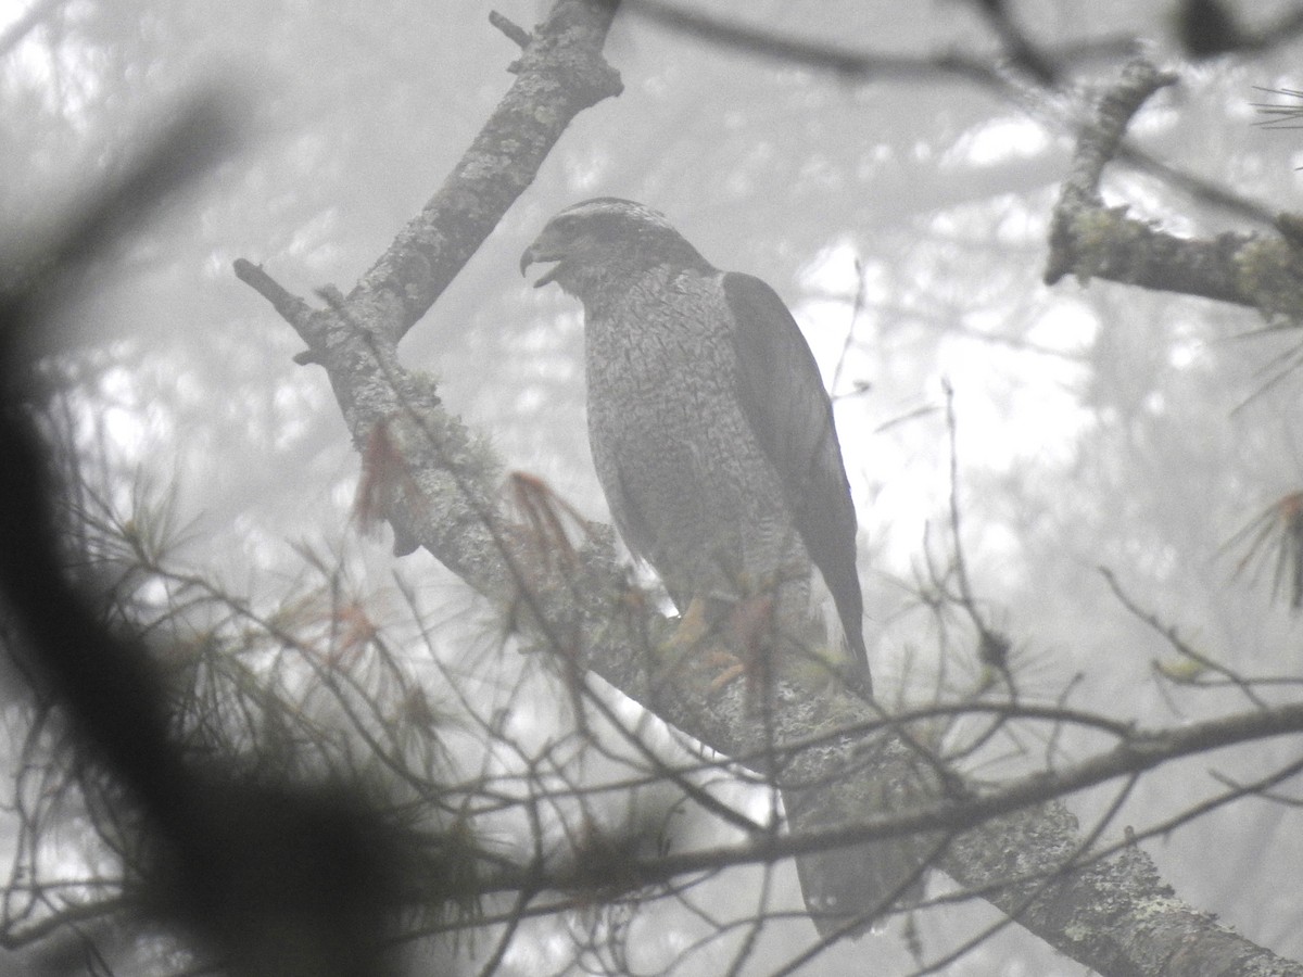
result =
M611 197L552 218L521 272L534 262L556 262L536 287L584 304L589 440L629 550L685 620L743 651L808 655L868 696L855 505L833 405L783 301ZM814 625L825 593L833 636Z

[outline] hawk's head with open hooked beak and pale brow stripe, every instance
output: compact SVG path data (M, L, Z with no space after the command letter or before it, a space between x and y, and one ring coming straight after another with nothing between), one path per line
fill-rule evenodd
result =
M618 197L576 203L549 220L520 257L520 274L534 262L556 262L534 288L555 281L580 298L658 264L710 268L662 214Z

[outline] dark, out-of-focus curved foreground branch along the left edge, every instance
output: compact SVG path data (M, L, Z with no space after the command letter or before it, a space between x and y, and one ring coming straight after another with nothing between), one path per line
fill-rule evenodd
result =
M56 517L61 487L25 403L25 341L44 322L43 302L159 194L233 143L219 108L207 98L182 109L115 185L26 255L25 287L3 298L0 591L10 653L73 731L78 762L107 774L115 823L141 828L139 861L125 866L126 905L197 935L237 973L373 977L386 972L384 927L399 866L413 853L356 789L263 783L224 757L182 749L142 638L107 624L94 582L72 582ZM77 908L60 921L76 925Z

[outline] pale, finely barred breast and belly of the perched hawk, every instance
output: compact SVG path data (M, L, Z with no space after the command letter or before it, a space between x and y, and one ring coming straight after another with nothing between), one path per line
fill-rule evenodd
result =
M718 276L641 281L585 313L602 487L625 537L636 517L645 546L679 567L714 563L740 525L783 507L739 401L732 328Z

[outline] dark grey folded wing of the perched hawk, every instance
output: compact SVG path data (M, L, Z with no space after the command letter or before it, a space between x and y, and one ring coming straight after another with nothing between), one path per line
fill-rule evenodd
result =
M778 293L740 274L726 274L723 289L736 320L743 412L778 469L796 531L833 593L851 651L866 677L855 503L833 426L833 403L814 354Z

